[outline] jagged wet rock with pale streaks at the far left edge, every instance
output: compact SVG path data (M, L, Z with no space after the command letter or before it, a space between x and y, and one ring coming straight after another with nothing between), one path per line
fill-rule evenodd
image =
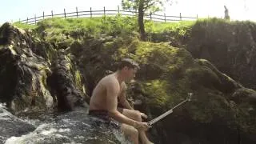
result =
M14 111L31 104L50 108L53 101L45 85L49 63L34 54L32 35L10 23L1 26L0 33L1 38L7 39L0 46L0 102L6 102Z

